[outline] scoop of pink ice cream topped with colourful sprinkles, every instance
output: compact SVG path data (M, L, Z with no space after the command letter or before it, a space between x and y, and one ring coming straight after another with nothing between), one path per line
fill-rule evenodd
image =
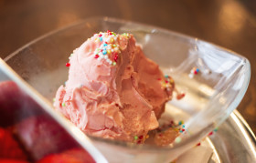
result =
M69 80L54 106L92 136L144 141L174 90L172 78L130 34L95 34L74 50L67 66Z

